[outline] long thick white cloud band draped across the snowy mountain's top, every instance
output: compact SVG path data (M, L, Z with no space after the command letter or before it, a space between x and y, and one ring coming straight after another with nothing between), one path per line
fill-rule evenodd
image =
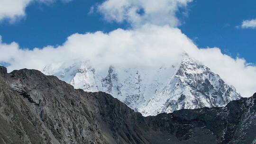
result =
M158 66L173 63L184 52L210 67L243 96L255 92L255 66L247 65L244 59L222 54L219 48L199 49L180 29L169 26L144 25L110 33L73 34L61 46L33 50L22 50L16 43L1 42L0 62L10 63L9 71L21 68L42 70L48 64L74 59L90 60L95 67L110 64Z

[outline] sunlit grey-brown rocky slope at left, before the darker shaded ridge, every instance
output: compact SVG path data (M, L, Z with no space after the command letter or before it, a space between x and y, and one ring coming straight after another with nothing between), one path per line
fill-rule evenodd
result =
M82 90L25 69L1 77L0 85L0 140L7 144L103 143L95 99Z

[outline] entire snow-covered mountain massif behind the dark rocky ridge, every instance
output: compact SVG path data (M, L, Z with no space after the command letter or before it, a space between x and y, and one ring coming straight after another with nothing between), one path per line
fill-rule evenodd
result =
M157 68L110 65L96 69L90 62L68 62L48 65L43 72L76 89L110 93L144 116L183 108L222 107L241 98L233 86L188 55Z

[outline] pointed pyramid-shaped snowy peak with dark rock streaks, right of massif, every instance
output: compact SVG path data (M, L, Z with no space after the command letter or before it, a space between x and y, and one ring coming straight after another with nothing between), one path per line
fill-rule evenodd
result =
M140 112L148 116L183 108L223 107L240 98L236 89L226 84L218 74L185 57L165 88Z

